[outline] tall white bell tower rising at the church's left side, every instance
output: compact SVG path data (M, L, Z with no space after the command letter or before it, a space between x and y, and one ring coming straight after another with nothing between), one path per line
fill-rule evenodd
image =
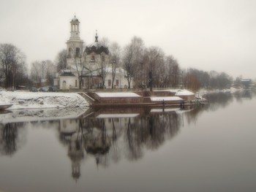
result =
M79 20L74 17L70 21L70 38L67 41L67 67L75 65L82 58L83 40L80 39Z

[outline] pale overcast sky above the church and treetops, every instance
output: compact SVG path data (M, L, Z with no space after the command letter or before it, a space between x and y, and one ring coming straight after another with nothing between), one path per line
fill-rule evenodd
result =
M121 47L137 36L181 68L256 78L255 0L0 0L0 43L18 47L28 64L54 61L74 15L86 44L96 30Z

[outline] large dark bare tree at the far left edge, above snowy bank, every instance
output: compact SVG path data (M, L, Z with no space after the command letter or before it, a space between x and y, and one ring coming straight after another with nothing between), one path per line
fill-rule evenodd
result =
M15 87L17 74L25 66L26 56L14 45L0 45L0 66L5 78L5 87Z

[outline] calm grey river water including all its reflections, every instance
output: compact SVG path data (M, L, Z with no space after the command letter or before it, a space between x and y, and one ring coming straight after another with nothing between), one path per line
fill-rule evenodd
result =
M0 191L256 191L255 93L208 99L72 119L0 114Z

